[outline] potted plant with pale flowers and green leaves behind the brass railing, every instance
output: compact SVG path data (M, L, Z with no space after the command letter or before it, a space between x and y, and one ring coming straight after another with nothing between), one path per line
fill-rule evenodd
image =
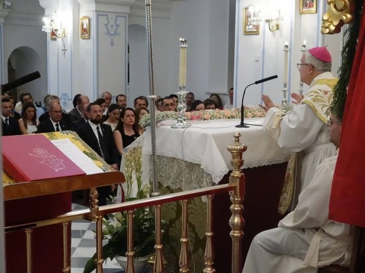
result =
M141 179L141 147L135 147L123 154L126 157L124 174L126 177L125 200L132 201L136 199L148 198L150 195L150 185L142 186ZM135 194L133 194L135 192ZM134 195L132 197L132 195ZM114 213L108 220L103 219L103 235L108 242L102 248L103 259L114 258L123 268L123 260L127 252L127 217L126 212ZM139 261L143 260L141 265L143 269L147 265L147 260L155 249L155 215L151 208L139 208L134 210L133 216L133 238L135 260L134 265L136 272ZM90 273L95 269L96 253L85 265L84 273Z

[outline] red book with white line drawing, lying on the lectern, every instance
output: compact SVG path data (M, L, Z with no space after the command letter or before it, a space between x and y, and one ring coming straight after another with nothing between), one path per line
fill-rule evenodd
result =
M3 136L2 142L4 170L16 182L86 174L43 134Z

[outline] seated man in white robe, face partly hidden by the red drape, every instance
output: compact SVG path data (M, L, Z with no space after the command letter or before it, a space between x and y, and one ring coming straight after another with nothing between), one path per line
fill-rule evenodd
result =
M331 142L340 147L341 119L332 115L327 123ZM297 207L278 228L253 239L242 273L314 273L325 265L350 264L353 226L328 216L336 161L332 156L318 166Z

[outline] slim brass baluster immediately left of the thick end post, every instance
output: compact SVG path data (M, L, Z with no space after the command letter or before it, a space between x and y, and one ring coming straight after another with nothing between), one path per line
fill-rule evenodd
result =
M205 244L205 268L203 269L204 273L214 273L215 269L213 268L213 260L214 260L214 246L213 246L213 231L212 231L212 195L208 195L208 203L207 203L207 232L205 233L205 237L207 238Z

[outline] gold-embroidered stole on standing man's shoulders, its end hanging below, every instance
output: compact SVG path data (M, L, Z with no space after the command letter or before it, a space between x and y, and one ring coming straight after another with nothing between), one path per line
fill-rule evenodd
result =
M337 81L337 78L319 79L315 81L314 85L301 102L308 105L324 123L327 123L327 120L329 119L333 89ZM316 88L316 85L320 86ZM299 192L298 187L301 187L302 155L300 153L291 152L289 156L278 206L278 212L280 214L284 214L289 209L290 204L292 204L294 208L297 202L294 198L296 197L296 192Z

